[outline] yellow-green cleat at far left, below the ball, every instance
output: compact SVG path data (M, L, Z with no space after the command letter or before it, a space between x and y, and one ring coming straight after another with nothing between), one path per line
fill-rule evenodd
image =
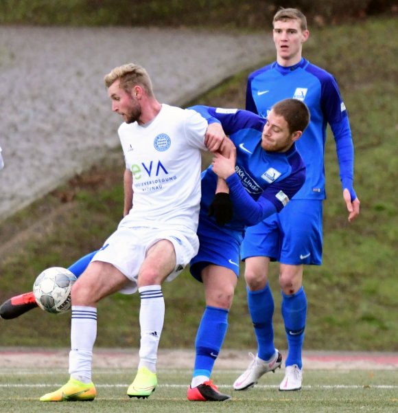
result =
M40 401L93 401L95 396L97 390L93 383L86 384L69 379L60 389L40 397Z

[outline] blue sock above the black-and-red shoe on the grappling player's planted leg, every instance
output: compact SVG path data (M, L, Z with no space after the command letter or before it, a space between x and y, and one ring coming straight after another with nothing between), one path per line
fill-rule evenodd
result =
M194 377L211 376L228 328L228 313L226 309L206 306L196 334Z

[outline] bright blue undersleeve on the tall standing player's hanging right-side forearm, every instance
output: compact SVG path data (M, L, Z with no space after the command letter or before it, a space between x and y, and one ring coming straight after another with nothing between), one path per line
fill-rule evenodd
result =
M349 190L351 201L353 201L357 195L353 189L354 147L348 117L342 118L340 122L331 122L330 127L336 140L342 189Z

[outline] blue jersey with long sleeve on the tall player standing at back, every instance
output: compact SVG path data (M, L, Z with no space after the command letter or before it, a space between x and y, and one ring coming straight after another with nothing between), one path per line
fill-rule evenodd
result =
M336 80L304 58L292 67L274 62L248 77L248 111L266 118L272 106L285 98L302 100L311 113L309 126L296 142L305 161L306 179L294 199L325 199L324 152L329 123L336 139L342 187L349 189L353 200L353 142Z

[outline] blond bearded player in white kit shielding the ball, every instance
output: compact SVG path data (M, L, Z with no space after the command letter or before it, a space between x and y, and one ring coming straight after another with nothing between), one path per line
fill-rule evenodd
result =
M224 139L223 133L205 139L207 121L197 112L159 103L148 73L138 65L116 67L104 80L113 111L124 118L119 137L126 159L125 216L73 284L70 379L40 401L95 398L97 302L117 291L138 290L141 296L140 361L127 394L146 398L154 391L165 313L161 284L198 252L200 150L218 150Z

